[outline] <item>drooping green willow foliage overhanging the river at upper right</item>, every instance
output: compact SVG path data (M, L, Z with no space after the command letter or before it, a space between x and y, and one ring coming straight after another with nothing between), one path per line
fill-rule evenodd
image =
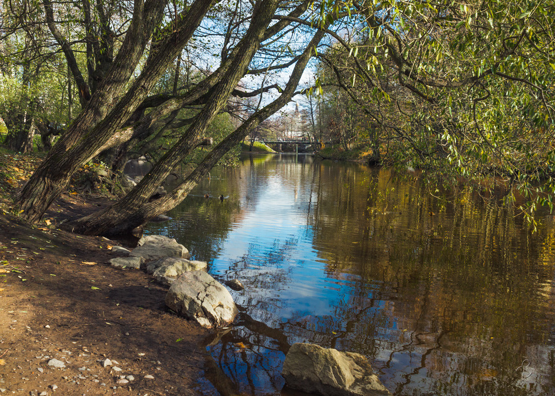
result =
M507 203L518 190L528 215L540 204L551 208L554 7L552 0L344 4L355 39L320 57L322 86L343 92L325 89L324 97L337 109L356 104L356 129L369 134L354 143L377 141L387 161L432 178L495 176L488 185L507 187Z

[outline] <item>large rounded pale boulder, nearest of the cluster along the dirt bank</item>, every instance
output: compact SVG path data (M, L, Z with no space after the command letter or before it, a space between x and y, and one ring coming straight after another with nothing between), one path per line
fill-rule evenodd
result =
M229 291L204 271L184 272L171 283L166 306L206 328L228 326L239 312Z

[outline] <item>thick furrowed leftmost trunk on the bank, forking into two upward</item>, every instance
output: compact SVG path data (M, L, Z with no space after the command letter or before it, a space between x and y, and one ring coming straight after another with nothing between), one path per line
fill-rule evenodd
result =
M94 92L85 109L34 172L18 200L22 217L38 222L52 201L65 189L70 176L105 149L105 143L122 127L170 62L183 48L210 8L211 0L196 0L181 20L181 26L151 48L145 69L128 92L112 106L112 99L123 89L143 54L148 37L158 26L164 2L135 2L134 21L125 37L113 67ZM133 45L132 40L137 41ZM121 59L121 58L124 59ZM115 81L114 81L115 79ZM109 87L108 92L104 88ZM104 101L99 102L104 98ZM109 111L109 113L108 113ZM61 167L60 167L61 165Z

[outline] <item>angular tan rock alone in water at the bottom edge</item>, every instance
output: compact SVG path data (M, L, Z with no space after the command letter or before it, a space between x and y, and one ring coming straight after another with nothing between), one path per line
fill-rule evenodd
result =
M388 396L368 359L316 344L296 343L285 356L281 374L288 387L323 396Z

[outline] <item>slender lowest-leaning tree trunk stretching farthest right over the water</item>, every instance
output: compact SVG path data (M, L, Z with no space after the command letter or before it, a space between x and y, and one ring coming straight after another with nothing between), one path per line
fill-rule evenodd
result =
M324 29L329 24L326 24ZM282 91L280 97L274 100L263 109L256 111L245 121L238 129L222 140L208 155L201 161L201 163L191 172L179 186L177 186L170 194L161 197L152 202L145 203L140 206L133 206L133 203L138 201L124 200L117 204L108 207L105 210L94 213L92 215L83 217L82 219L70 222L63 226L64 229L88 235L99 234L122 234L130 233L135 227L144 224L152 217L163 214L164 212L173 209L194 188L196 184L210 171L210 169L218 163L220 158L227 153L235 145L239 144L241 140L254 130L262 121L267 119L270 115L274 114L282 108L295 93L295 88L299 84L302 72L309 62L311 57L312 48L314 48L324 37L324 31L317 31L314 38L312 38L310 45L304 53L299 57L295 68L291 73L289 82L285 89ZM152 176L145 176L148 179ZM151 188L154 184L151 186ZM137 186L139 187L139 185ZM135 188L137 188L135 187ZM139 187L140 188L143 188ZM138 190L139 190L138 189ZM151 190L152 191L152 190ZM138 192L137 192L138 194Z

